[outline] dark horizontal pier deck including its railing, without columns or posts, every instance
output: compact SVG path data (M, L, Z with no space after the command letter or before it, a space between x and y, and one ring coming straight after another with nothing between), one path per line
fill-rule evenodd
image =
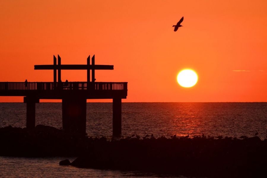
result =
M86 99L126 98L127 82L0 82L0 96L62 99L68 95Z

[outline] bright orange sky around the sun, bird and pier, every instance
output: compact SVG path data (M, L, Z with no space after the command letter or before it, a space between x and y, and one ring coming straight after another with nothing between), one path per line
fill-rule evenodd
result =
M128 82L123 102L267 101L267 1L73 2L0 1L1 82L53 81L34 65L95 54L114 65L96 71L97 82ZM178 85L183 68L198 73L194 87ZM61 78L86 81L86 71Z

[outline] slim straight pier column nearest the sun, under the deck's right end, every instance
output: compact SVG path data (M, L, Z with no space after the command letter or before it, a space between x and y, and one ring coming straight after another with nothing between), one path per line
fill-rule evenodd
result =
M113 136L121 135L121 98L113 98Z

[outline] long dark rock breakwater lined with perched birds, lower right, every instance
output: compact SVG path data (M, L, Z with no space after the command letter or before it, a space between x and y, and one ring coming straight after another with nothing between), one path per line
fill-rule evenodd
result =
M265 177L267 139L173 136L95 139L72 166L204 177Z

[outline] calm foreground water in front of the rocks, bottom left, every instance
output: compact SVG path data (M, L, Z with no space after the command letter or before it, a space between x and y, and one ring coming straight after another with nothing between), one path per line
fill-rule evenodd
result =
M59 161L75 158L46 157L18 158L0 157L0 177L173 177L137 171L82 169L73 166L59 166ZM187 178L178 176L179 178Z

